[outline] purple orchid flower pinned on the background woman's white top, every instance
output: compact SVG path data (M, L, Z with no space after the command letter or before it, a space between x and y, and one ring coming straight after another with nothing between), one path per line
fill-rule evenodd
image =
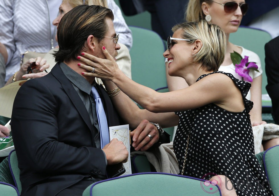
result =
M248 56L244 56L244 58L241 60L239 64L235 64L235 72L239 74L241 77L243 77L244 80L252 82L253 79L249 75L249 68L258 69L258 66L255 62L248 63Z

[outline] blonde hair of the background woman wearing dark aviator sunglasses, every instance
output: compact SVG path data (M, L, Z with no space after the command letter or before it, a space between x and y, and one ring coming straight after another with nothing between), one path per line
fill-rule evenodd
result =
M202 3L212 3L210 0L189 0L188 6L185 12L186 21L198 21L205 18L205 14L202 11Z

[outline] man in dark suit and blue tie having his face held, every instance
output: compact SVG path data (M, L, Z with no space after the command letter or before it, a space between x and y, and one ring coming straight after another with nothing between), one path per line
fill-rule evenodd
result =
M127 161L126 147L117 139L101 147L102 122L91 88L100 95L105 126L122 122L108 93L94 77L82 74L86 70L78 66L77 59L82 52L103 58L102 46L117 55L120 46L112 20L110 9L95 5L80 5L66 13L58 27L59 50L54 54L58 63L48 75L20 87L11 130L22 196L82 195L87 186L107 178L107 165ZM145 144L159 141L156 126L143 121L142 127L136 131L153 136Z

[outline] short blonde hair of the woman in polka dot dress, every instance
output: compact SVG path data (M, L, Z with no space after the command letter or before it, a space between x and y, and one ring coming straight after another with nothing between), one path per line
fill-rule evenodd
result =
M227 48L226 34L221 27L208 24L205 20L185 22L175 25L173 32L182 29L182 37L190 39L188 44L201 40L200 51L193 56L193 62L201 64L206 71L218 71L225 58Z

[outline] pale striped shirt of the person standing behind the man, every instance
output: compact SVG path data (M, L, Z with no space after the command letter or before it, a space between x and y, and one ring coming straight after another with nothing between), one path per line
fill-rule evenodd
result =
M26 51L47 53L58 44L55 40L56 18L62 0L1 0L0 42L8 52L6 64L7 81L20 68L20 53ZM114 29L119 42L128 49L132 47L132 33L120 8L113 0L107 0L108 8L114 13Z

